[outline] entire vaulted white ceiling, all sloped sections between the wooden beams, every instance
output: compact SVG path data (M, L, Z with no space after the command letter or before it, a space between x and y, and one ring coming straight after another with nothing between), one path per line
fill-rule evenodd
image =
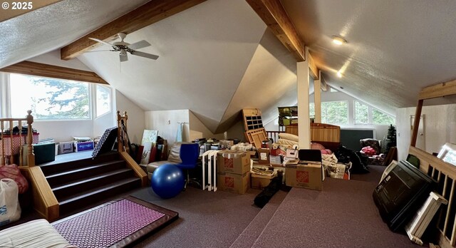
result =
M146 2L63 0L2 21L0 68L59 50ZM455 1L281 4L326 82L388 113L416 105L424 86L456 78ZM333 35L348 43L334 45ZM140 40L157 61L120 64L113 52L77 59L142 109L190 109L214 133L242 108L260 108L267 122L277 106L296 104L296 59L245 0L203 1L125 38Z

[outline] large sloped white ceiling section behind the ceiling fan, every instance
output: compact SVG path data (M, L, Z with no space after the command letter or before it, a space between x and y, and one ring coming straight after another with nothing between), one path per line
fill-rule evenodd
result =
M109 51L78 58L142 109L190 109L214 132L265 29L247 2L210 0L125 38L149 41L140 51L157 61L129 56L120 64Z

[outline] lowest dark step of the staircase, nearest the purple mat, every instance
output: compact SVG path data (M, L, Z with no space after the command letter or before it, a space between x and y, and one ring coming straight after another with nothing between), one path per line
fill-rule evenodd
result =
M81 209L83 206L90 205L92 202L96 202L100 199L110 197L121 192L127 192L133 190L135 187L141 186L141 180L137 177L125 178L118 180L117 182L103 185L101 187L95 187L91 190L80 192L78 195L72 195L71 197L65 197L60 202L59 212L60 215L65 215L76 209Z

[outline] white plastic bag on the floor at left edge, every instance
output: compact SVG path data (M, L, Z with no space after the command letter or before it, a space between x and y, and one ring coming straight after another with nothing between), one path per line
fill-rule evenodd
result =
M16 182L9 178L0 180L0 226L21 218L19 189Z

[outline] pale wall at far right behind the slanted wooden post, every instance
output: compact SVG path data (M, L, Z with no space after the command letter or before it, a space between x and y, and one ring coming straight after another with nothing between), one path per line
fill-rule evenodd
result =
M408 155L411 139L410 115L415 115L415 107L396 110L396 132L398 135L398 159ZM456 104L423 106L424 150L438 153L445 143L456 143ZM421 137L420 137L421 138ZM420 148L419 145L417 145Z

